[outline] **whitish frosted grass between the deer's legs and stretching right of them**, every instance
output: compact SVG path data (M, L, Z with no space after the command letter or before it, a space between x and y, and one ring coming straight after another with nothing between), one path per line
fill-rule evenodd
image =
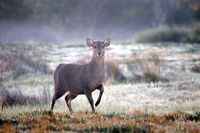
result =
M93 92L94 102L96 102L98 95L98 91ZM182 101L184 101L184 96L185 93L180 90L167 90L167 88L149 86L148 84L106 85L105 93L96 111L129 113L142 109L147 112L165 113L200 109L200 97L191 98L185 102L173 99L173 97L182 97ZM64 98L59 101L60 103L57 104L55 110L58 112L68 111ZM74 99L72 107L75 111L91 111L89 102L84 95Z

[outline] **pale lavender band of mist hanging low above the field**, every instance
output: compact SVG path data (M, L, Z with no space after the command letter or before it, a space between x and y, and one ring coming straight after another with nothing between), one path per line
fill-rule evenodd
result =
M1 23L0 42L20 43L36 41L43 43L80 41L86 37L103 39L111 37L115 40L126 40L132 31L113 27L65 27L61 25L35 24L35 23Z

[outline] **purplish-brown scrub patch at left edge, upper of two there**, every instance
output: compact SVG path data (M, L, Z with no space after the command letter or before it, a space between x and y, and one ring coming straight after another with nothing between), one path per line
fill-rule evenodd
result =
M0 81L16 79L27 73L48 73L50 70L42 62L41 57L33 56L11 51L9 49L0 49Z

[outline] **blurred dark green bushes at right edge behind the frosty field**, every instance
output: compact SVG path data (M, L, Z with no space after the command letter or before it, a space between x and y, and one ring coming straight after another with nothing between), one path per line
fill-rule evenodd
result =
M179 26L160 26L141 32L136 37L138 43L200 43L200 23L184 28Z

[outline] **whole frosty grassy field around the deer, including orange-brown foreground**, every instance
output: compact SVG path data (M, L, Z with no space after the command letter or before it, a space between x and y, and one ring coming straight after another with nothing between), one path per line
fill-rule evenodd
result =
M112 73L107 77L96 113L91 112L86 97L80 95L72 101L73 114L69 113L64 97L57 101L54 112L49 111L52 71L59 63L88 62L91 51L85 44L1 44L0 48L15 57L23 51L33 60L19 61L26 71L18 77L11 76L18 67L13 67L12 73L7 69L2 73L1 83L8 92L18 90L25 102L8 103L0 110L0 132L200 131L199 45L113 42L106 56ZM49 69L41 70L32 65L35 62ZM119 80L117 70L124 80ZM93 93L95 101L98 94Z

